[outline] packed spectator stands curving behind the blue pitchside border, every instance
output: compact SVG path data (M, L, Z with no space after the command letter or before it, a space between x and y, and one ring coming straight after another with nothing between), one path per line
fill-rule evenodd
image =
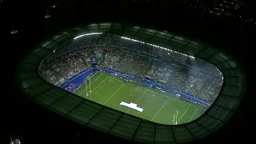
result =
M118 46L122 49L102 49ZM151 55L145 57L143 50L149 50L147 47L111 34L90 35L66 42L54 50L54 53L42 62L39 71L46 81L61 86L74 74L92 69L90 58L97 58L98 67L110 67L129 74L153 78L166 86L173 86L206 99L209 103L218 97L222 87L222 75L216 67L177 53L168 53L169 58L162 58L158 55L159 52L154 54L153 48Z

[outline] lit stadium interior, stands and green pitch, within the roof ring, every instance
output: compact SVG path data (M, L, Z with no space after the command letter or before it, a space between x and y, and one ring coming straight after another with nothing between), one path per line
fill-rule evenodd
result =
M96 65L92 64L92 58L96 59ZM102 68L116 71L110 73ZM85 70L97 72L63 86ZM172 50L163 53L144 42L106 33L86 34L66 42L44 59L39 74L47 82L82 98L169 125L200 117L218 97L223 80L221 72L208 62ZM132 78L128 78L129 74ZM143 82L146 79L157 84ZM167 89L175 92L168 93ZM120 106L120 102L134 102L143 111Z

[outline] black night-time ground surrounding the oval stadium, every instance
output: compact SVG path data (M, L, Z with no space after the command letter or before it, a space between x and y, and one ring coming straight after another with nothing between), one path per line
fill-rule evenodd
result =
M55 8L50 6L56 5ZM46 10L51 18L44 18ZM254 14L250 14L254 16ZM0 2L2 101L0 139L23 143L126 142L78 125L31 102L16 83L19 60L44 39L86 22L131 22L209 42L231 54L246 70L247 92L230 122L199 143L254 142L254 23L216 16L178 0L37 0ZM10 34L13 29L18 34ZM198 143L194 142L194 143Z

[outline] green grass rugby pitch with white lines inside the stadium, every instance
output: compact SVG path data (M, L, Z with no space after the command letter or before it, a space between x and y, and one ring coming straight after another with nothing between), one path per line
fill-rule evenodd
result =
M102 87L105 82L107 82L107 86ZM92 93L86 96L86 85L84 84L74 94L126 114L161 124L173 125L174 114L177 113L177 110L178 124L190 122L200 117L206 110L205 106L197 103L177 99L159 90L138 86L133 82L124 82L121 78L115 78L104 72L98 72L91 78L91 90ZM138 112L120 106L120 102L136 103L143 111Z

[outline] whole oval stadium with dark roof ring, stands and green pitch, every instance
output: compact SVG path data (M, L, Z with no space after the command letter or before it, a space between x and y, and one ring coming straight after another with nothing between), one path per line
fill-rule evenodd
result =
M21 62L34 102L81 125L147 143L183 143L223 126L245 93L245 74L214 46L126 23L76 26Z

